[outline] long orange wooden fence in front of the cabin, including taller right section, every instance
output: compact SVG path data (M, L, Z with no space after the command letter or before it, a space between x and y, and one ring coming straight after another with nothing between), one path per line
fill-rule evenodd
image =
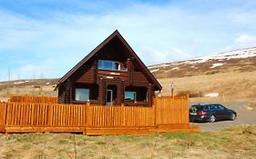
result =
M159 97L152 107L1 103L0 132L145 134L193 131L188 98Z

